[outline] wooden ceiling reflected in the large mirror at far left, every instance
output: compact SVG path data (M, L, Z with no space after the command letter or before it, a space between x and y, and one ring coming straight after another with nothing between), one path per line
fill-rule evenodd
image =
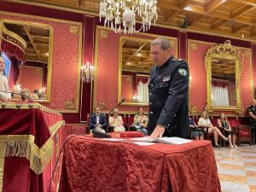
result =
M44 62L49 58L49 29L40 26L19 25L4 22L4 26L26 41L26 61Z

